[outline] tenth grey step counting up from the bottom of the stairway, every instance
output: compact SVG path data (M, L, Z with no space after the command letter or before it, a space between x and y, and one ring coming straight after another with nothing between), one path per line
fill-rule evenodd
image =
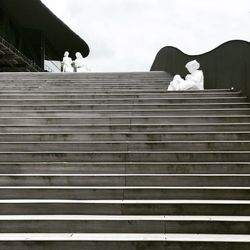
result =
M250 123L137 123L137 124L22 124L0 125L0 133L54 133L54 132L232 132L249 131Z

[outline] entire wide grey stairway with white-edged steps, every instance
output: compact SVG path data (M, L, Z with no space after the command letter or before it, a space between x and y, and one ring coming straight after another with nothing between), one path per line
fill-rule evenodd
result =
M0 74L0 249L250 249L250 104L151 73Z

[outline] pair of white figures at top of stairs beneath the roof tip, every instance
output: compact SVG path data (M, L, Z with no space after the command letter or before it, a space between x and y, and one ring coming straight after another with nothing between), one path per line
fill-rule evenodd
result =
M73 61L71 57L69 57L69 52L66 51L64 53L64 57L62 60L62 72L88 72L90 69L86 66L83 56L80 52L76 52L76 59Z

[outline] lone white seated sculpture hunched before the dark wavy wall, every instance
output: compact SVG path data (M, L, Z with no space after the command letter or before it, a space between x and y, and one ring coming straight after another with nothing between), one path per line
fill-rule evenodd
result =
M185 80L179 75L175 75L173 81L168 86L169 91L180 90L203 90L204 89L204 76L203 72L199 70L200 64L194 60L188 62L185 66L190 74L187 74Z

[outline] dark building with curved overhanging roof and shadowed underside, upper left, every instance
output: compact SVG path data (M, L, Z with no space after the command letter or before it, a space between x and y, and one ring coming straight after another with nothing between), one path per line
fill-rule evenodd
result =
M0 36L40 68L45 59L61 60L69 49L89 54L87 43L40 0L0 0Z

